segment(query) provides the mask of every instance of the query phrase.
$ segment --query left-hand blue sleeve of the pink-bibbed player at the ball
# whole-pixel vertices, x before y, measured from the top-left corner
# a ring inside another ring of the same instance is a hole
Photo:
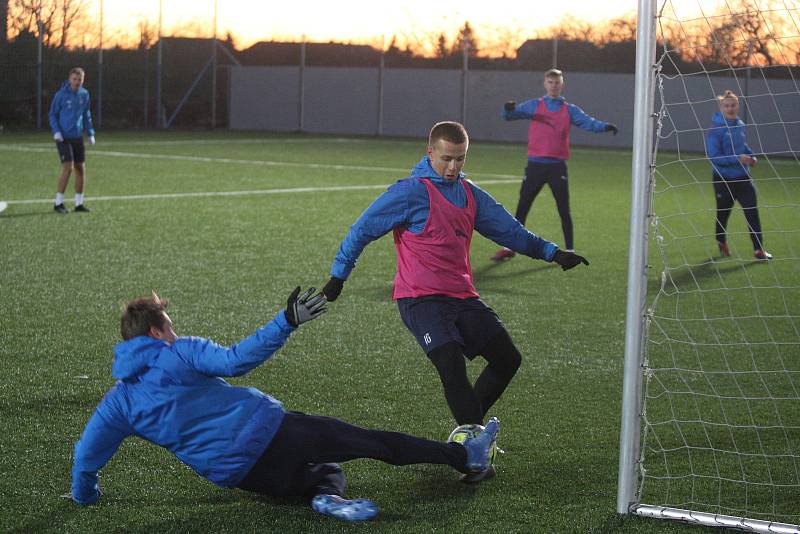
[[[401,180],[364,210],[342,240],[331,266],[331,276],[347,280],[367,245],[408,221],[410,187],[411,184]]]

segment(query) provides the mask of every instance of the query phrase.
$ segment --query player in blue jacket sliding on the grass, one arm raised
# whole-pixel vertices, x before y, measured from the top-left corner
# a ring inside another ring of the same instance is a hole
[[[124,341],[114,348],[117,383],[75,444],[69,497],[97,502],[98,471],[128,436],[168,449],[218,486],[305,497],[314,511],[349,521],[370,519],[378,507],[343,498],[345,476],[336,462],[373,458],[394,465],[445,464],[463,473],[485,470],[497,419],[463,445],[441,443],[287,412],[273,397],[220,378],[258,367],[299,325],[325,313],[325,297],[313,293],[311,288],[300,295],[296,288],[285,310],[230,348],[178,337],[168,302],[155,294],[129,302],[121,320]]]

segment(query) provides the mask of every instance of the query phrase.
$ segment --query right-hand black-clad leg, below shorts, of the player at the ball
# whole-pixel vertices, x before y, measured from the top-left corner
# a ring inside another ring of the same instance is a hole
[[[475,394],[485,416],[514,378],[522,363],[522,355],[503,329],[486,344],[482,356],[488,365],[475,381]]]

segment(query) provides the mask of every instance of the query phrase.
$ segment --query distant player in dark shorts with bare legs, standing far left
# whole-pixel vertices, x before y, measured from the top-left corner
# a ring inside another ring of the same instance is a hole
[[[92,114],[89,111],[89,91],[83,87],[85,74],[80,67],[69,71],[69,78],[61,86],[50,104],[50,129],[56,141],[58,156],[61,159],[61,176],[58,178],[53,209],[66,214],[64,191],[67,189],[69,175],[75,169],[75,211],[89,212],[83,204],[83,189],[86,185],[86,150],[83,146],[83,131],[89,135],[89,144],[94,144]]]

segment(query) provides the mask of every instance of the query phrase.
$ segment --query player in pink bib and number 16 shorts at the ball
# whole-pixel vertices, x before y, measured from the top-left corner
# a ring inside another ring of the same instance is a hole
[[[475,290],[469,262],[473,230],[564,270],[589,262],[529,232],[461,172],[469,139],[457,122],[434,125],[427,154],[379,196],[350,227],[323,288],[334,301],[369,243],[393,232],[397,274],[392,298],[436,367],[458,425],[482,424],[521,363],[500,318]],[[470,384],[465,357],[487,365]],[[493,474],[493,470],[491,470]]]

